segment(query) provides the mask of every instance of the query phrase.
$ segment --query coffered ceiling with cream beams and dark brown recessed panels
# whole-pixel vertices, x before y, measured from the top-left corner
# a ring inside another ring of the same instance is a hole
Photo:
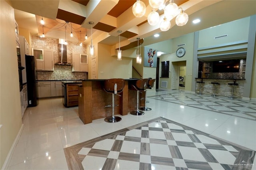
[[[74,42],[90,43],[91,35],[98,38],[100,43],[118,46],[118,30],[122,33],[122,45],[144,38],[144,44],[156,43],[183,34],[195,32],[211,26],[216,26],[236,19],[256,14],[255,0],[174,0],[179,7],[189,15],[185,26],[176,26],[175,19],[171,20],[171,28],[161,32],[159,25],[150,26],[147,16],[151,12],[148,0],[146,14],[136,18],[132,13],[132,5],[136,0],[10,0],[15,13],[15,19],[20,28],[30,30],[32,35],[43,33],[40,20],[45,21],[44,34],[46,37],[66,39]],[[163,11],[158,10],[163,18]],[[201,22],[192,24],[192,20],[199,18]],[[94,22],[94,25],[88,24]],[[72,25],[72,26],[71,26]],[[70,38],[70,32],[75,35]],[[81,32],[80,32],[81,31]],[[160,33],[160,38],[152,38]]]

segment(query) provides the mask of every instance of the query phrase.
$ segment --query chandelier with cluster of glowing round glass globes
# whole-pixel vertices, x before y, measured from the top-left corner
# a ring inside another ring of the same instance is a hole
[[[148,0],[150,6],[153,8],[152,12],[148,14],[148,24],[155,26],[159,23],[160,16],[156,10],[164,10],[164,20],[160,22],[160,30],[168,31],[171,27],[170,20],[176,17],[177,26],[184,26],[188,22],[188,14],[178,8],[178,5],[173,0]],[[140,18],[146,13],[146,5],[141,0],[137,0],[132,6],[134,16]]]

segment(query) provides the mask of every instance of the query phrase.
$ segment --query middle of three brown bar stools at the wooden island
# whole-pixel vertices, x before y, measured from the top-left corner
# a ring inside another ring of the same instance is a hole
[[[130,85],[130,90],[137,91],[137,105],[136,105],[136,111],[131,111],[131,115],[144,115],[143,111],[139,111],[139,93],[142,93],[142,91],[146,91],[146,88],[148,86],[148,79],[140,79],[137,80],[135,84]]]

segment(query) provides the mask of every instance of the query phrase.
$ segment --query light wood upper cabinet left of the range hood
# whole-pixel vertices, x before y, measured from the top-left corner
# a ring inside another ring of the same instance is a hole
[[[51,49],[32,48],[38,71],[54,71],[54,55]]]

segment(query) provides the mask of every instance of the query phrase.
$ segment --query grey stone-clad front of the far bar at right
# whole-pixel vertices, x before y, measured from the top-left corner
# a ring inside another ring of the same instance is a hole
[[[196,79],[196,81],[200,81],[201,79]],[[201,94],[213,95],[214,94],[214,84],[211,82],[220,83],[220,85],[216,85],[216,95],[217,96],[226,96],[231,97],[232,95],[232,85],[228,85],[228,83],[234,83],[234,79],[203,79],[201,86]],[[234,85],[233,97],[242,99],[244,94],[244,79],[236,80],[238,85]],[[196,83],[196,93],[199,93],[200,83]]]

